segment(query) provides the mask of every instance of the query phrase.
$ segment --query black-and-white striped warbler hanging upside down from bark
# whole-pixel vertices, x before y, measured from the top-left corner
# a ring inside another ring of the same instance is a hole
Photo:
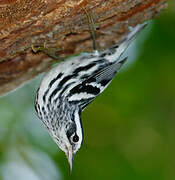
[[[144,27],[137,25],[109,49],[68,58],[43,78],[36,94],[35,109],[56,144],[65,152],[71,169],[83,140],[81,112],[109,85],[126,60],[118,61],[119,57]]]

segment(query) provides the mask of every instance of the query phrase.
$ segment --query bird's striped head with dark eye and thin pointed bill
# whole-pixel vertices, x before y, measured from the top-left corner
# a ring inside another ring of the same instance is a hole
[[[67,156],[71,171],[74,156],[80,149],[83,141],[80,114],[74,113],[72,117],[73,119],[71,120],[66,119],[65,121],[59,122],[58,128],[51,130],[51,136],[54,141]]]

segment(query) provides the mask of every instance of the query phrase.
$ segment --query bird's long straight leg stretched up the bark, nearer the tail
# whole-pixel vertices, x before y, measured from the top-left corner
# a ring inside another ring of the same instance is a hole
[[[93,40],[93,49],[94,49],[94,51],[97,51],[97,44],[96,44],[96,40],[95,40],[96,27],[94,24],[93,17],[90,13],[87,12],[87,10],[85,8],[83,8],[83,10],[84,10],[86,17],[87,17],[87,20],[88,20],[89,30],[90,30],[91,37]]]

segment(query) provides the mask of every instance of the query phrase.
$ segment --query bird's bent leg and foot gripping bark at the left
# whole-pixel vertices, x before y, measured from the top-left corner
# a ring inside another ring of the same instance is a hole
[[[57,55],[57,52],[61,51],[61,48],[47,48],[46,42],[44,43],[43,46],[32,45],[31,48],[32,48],[34,53],[38,53],[39,51],[42,51],[45,54],[47,54],[48,56],[50,56],[51,58],[54,58],[56,60],[62,60],[63,59]]]

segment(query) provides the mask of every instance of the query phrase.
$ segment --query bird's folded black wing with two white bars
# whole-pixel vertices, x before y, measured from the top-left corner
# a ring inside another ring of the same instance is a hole
[[[67,100],[70,103],[78,103],[83,110],[109,85],[126,59],[127,58],[124,58],[119,62],[105,65],[101,67],[99,71],[93,72],[88,79],[70,90]]]

